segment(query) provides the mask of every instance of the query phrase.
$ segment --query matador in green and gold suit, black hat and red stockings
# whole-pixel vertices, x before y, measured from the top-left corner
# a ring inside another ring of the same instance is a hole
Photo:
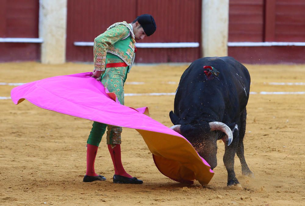
[[[156,31],[154,18],[149,14],[138,16],[133,22],[112,24],[94,39],[94,70],[92,77],[101,81],[107,92],[116,94],[124,105],[124,82],[135,59],[136,41]],[[107,145],[114,166],[114,183],[142,184],[143,181],[129,175],[121,161],[122,127],[93,122],[87,140],[87,169],[83,182],[104,181],[106,178],[95,173],[94,162],[107,127]]]

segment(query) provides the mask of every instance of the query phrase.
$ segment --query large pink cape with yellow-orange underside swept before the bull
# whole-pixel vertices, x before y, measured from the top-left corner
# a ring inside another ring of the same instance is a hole
[[[15,87],[11,98],[17,105],[24,99],[59,113],[105,124],[136,129],[143,137],[159,171],[178,182],[196,179],[206,186],[214,173],[181,134],[143,113],[147,108],[133,109],[120,105],[115,94],[91,77],[92,72],[56,76]]]

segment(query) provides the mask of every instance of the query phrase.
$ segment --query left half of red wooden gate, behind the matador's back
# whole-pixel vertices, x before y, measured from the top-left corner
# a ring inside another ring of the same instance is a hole
[[[136,0],[68,0],[67,61],[93,61],[93,47],[74,46],[74,42],[93,42],[113,23],[135,19]]]

